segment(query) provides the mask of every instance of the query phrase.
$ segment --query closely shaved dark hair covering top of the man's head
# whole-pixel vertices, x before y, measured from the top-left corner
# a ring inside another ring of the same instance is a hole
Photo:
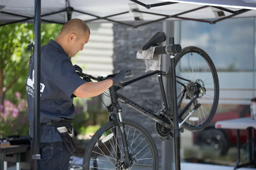
[[[77,36],[77,40],[80,39],[86,32],[90,32],[90,28],[88,25],[82,20],[82,19],[71,19],[68,22],[66,22],[60,31],[60,34],[72,34],[74,33]]]

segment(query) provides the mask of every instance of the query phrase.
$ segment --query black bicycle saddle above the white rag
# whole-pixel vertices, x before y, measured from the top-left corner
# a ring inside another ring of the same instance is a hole
[[[156,46],[166,40],[166,35],[164,32],[156,32],[151,35],[148,42],[142,47],[142,50],[147,50],[150,46]]]

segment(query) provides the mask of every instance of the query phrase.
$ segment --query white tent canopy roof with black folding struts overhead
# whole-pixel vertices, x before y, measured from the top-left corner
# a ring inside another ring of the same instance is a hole
[[[137,20],[139,20],[140,23],[145,23],[165,19],[192,19],[210,23],[210,21],[205,21],[205,19],[214,21],[217,19],[222,20],[225,17],[256,17],[256,11],[251,10],[256,7],[254,0],[166,1],[76,0],[68,2],[67,0],[42,0],[42,22],[65,23],[68,20],[68,10],[72,11],[70,13],[71,18],[80,18],[87,22],[117,21],[126,24]],[[147,9],[149,8],[149,4],[151,4],[151,8]],[[219,7],[216,6],[216,4],[220,4],[218,5]],[[227,8],[227,5],[232,8]],[[220,6],[225,6],[225,8]],[[0,22],[33,22],[31,19],[34,17],[34,8],[34,0],[0,0]],[[238,11],[238,15],[236,15],[234,11]],[[181,15],[177,16],[177,14]],[[28,20],[29,18],[30,20]]]

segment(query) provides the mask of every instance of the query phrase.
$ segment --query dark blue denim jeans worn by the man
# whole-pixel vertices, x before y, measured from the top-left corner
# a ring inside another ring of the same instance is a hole
[[[33,140],[31,140],[33,147]],[[70,152],[63,142],[40,143],[39,170],[68,170]]]

